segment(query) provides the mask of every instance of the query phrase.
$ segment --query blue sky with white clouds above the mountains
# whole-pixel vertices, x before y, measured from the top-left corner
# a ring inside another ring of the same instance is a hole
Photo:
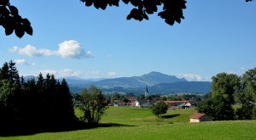
[[[33,35],[5,36],[0,64],[15,61],[20,76],[114,78],[151,71],[211,81],[256,67],[256,1],[191,0],[181,24],[157,14],[126,20],[131,5],[98,10],[79,0],[10,0],[32,23]]]

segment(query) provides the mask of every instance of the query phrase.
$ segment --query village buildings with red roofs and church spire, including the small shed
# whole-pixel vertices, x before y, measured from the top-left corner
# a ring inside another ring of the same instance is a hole
[[[169,111],[177,109],[195,109],[195,107],[201,103],[201,97],[195,94],[182,94],[176,95],[176,98],[166,98],[166,96],[160,95],[149,95],[148,87],[146,86],[145,92],[140,96],[127,96],[118,92],[108,95],[106,103],[108,107],[134,107],[134,108],[153,108],[157,103],[164,102]],[[79,96],[79,95],[77,95]],[[189,98],[197,97],[197,98]],[[199,98],[198,98],[199,97]],[[82,106],[80,98],[73,98],[73,105],[75,108]],[[212,117],[202,113],[195,113],[189,116],[188,120],[190,122],[202,122],[202,121],[212,121]]]

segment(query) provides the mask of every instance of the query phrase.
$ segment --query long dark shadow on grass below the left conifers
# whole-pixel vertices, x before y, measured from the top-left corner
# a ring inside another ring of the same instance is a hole
[[[19,125],[19,126],[0,126],[0,137],[15,137],[15,136],[28,136],[42,132],[72,132],[85,129],[93,129],[98,127],[117,127],[117,126],[130,126],[115,123],[102,123],[102,124],[87,124],[83,121],[78,121],[73,124],[59,124],[59,125]]]

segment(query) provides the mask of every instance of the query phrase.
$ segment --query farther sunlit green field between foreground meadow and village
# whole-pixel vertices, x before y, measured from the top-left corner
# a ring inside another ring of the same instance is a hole
[[[163,116],[164,119],[159,119],[152,115],[150,109],[113,107],[108,109],[107,114],[102,118],[102,122],[135,126],[170,124],[174,122],[189,122],[189,115],[193,113],[195,113],[195,109],[177,109],[168,111]]]

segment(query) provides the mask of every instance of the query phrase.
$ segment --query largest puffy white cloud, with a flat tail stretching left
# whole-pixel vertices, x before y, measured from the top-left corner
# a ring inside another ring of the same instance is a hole
[[[10,52],[18,53],[28,57],[34,56],[61,56],[62,58],[70,59],[82,59],[82,58],[94,58],[95,56],[90,51],[85,52],[84,48],[79,42],[70,40],[61,42],[58,50],[38,49],[31,45],[27,45],[25,48],[13,47],[9,49]]]

